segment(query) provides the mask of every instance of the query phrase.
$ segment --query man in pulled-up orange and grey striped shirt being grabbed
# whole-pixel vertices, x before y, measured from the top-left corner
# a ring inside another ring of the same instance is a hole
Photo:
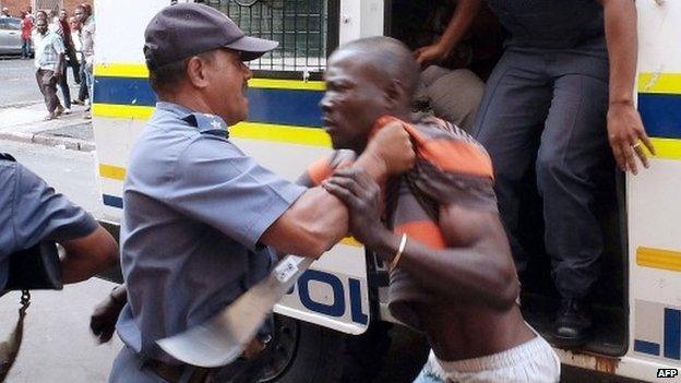
[[[409,122],[418,161],[383,188],[385,199],[357,170],[335,170],[322,184],[347,204],[353,235],[391,266],[391,312],[430,343],[416,382],[557,382],[558,357],[516,304],[489,156],[450,123],[410,120],[418,71],[407,47],[387,37],[331,56],[320,106],[334,147],[361,153],[375,121],[390,115]],[[326,164],[331,170],[334,157]]]

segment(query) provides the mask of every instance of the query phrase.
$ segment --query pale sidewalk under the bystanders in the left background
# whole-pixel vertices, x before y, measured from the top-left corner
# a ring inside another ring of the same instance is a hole
[[[92,152],[95,139],[85,107],[73,105],[71,113],[44,121],[43,100],[0,107],[0,140],[31,142],[61,148]]]

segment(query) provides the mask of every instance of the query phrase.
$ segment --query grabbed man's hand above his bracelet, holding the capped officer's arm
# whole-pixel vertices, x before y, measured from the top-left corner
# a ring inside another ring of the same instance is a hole
[[[367,172],[357,169],[336,170],[322,187],[347,206],[349,230],[358,241],[373,248],[391,235],[381,223],[381,188]]]

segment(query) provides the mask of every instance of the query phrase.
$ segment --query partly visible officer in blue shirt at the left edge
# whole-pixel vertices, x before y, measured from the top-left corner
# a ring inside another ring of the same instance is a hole
[[[64,248],[65,284],[85,280],[118,261],[116,241],[88,213],[7,154],[0,154],[0,291],[9,278],[10,255],[44,240]]]

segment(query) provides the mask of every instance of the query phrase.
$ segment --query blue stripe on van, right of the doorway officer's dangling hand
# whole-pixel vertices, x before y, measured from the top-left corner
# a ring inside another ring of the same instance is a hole
[[[681,139],[681,95],[640,93],[638,111],[649,136]]]

